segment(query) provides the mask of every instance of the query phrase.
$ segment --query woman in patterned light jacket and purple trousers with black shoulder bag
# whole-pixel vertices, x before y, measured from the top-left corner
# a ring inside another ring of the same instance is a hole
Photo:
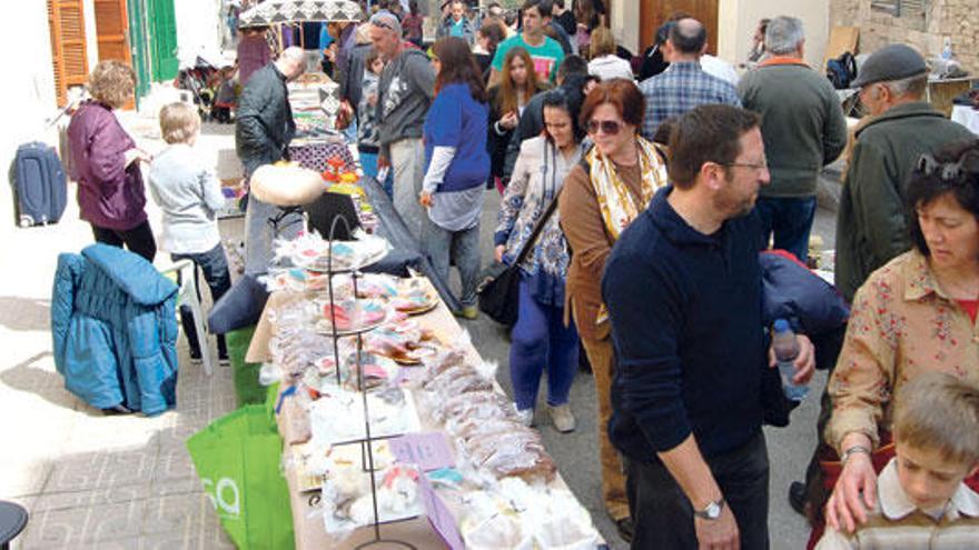
[[[532,247],[521,263],[520,304],[510,348],[517,414],[526,426],[533,423],[541,376],[546,370],[547,409],[554,428],[562,433],[575,428],[568,396],[577,370],[578,340],[574,326],[565,323],[568,254],[557,212],[535,242],[528,239],[561,192],[564,177],[581,160],[585,133],[577,123],[580,109],[580,100],[575,102],[560,90],[545,92],[544,131],[521,144],[494,236],[496,261],[512,263],[524,247]]]

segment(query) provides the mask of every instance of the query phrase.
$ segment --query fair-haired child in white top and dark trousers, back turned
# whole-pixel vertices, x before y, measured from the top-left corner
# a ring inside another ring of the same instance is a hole
[[[160,248],[170,252],[174,261],[187,258],[196,263],[216,302],[231,287],[231,276],[215,216],[225,203],[221,184],[212,167],[192,149],[200,133],[200,116],[194,106],[170,103],[160,110],[160,131],[169,147],[149,167],[149,189],[164,212]],[[197,340],[189,338],[191,333],[188,340],[195,358],[199,350]],[[218,358],[227,360],[222,336],[218,336]]]

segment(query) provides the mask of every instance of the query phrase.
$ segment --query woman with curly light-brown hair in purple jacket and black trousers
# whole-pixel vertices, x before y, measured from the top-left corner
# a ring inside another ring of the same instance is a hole
[[[125,246],[152,261],[157,252],[146,219],[146,191],[139,161],[149,156],[112,113],[132,98],[136,74],[119,61],[101,61],[92,70],[88,91],[68,124],[71,178],[78,182],[81,219],[89,222],[96,241]]]

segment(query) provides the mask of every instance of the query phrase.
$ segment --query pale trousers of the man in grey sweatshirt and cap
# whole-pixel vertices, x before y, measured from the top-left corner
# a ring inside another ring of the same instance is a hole
[[[425,146],[422,138],[405,138],[390,144],[390,171],[394,174],[394,209],[412,237],[419,238],[428,214],[418,204],[425,178]]]

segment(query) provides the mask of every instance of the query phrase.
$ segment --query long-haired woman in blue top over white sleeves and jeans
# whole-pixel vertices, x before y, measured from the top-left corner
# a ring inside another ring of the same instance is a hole
[[[490,176],[486,88],[469,46],[457,37],[432,47],[435,99],[425,117],[427,169],[418,201],[428,210],[423,247],[435,270],[448,280],[449,254],[459,270],[462,310],[475,319],[479,277],[479,213]]]

